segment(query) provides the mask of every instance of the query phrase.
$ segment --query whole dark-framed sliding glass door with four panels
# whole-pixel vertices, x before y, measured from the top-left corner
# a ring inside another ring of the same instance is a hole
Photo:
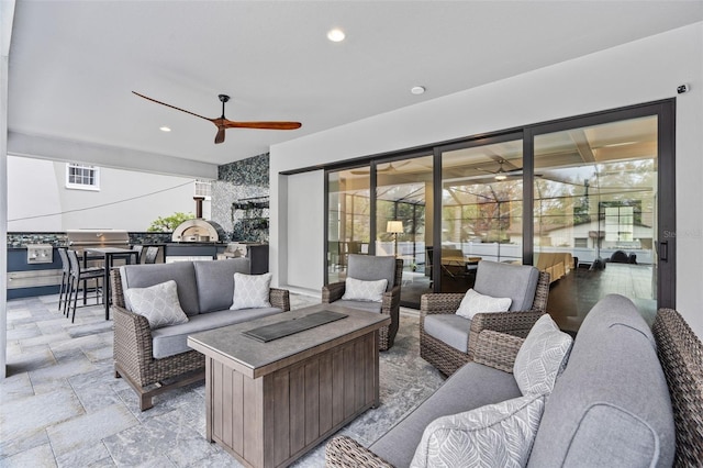
[[[327,280],[345,277],[349,253],[395,256],[401,302],[416,308],[423,293],[471,288],[480,260],[534,265],[549,272],[548,311],[569,331],[609,293],[647,319],[676,307],[673,104],[328,170]]]

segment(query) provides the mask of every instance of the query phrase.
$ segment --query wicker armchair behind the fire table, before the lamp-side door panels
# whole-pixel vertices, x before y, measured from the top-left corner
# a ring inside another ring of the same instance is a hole
[[[372,279],[382,279],[386,276],[376,277],[373,274],[369,271],[362,271],[369,263],[378,263],[376,259],[382,259],[381,261],[386,261],[391,257],[373,257],[368,255],[353,255],[350,254],[348,257],[348,269],[347,275],[352,278],[362,279],[362,280],[372,280]],[[383,300],[381,302],[380,312],[386,315],[390,315],[391,324],[388,326],[383,326],[380,328],[379,333],[379,349],[388,350],[391,346],[393,346],[393,341],[395,339],[395,334],[398,333],[399,326],[399,313],[400,313],[400,287],[402,282],[403,276],[403,260],[395,259],[395,268],[393,271],[393,283],[389,286],[389,288],[383,293]],[[322,302],[331,303],[335,301],[342,300],[344,292],[346,290],[345,281],[338,281],[330,283],[322,288]],[[369,310],[369,303],[354,303],[355,301],[344,301],[344,305],[350,308],[359,308]],[[372,304],[372,303],[371,303]]]

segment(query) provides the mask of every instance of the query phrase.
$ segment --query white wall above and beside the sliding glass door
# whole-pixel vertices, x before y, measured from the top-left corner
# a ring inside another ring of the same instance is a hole
[[[324,260],[323,210],[308,201],[292,204],[292,181],[306,176],[281,183],[280,171],[667,99],[683,82],[691,91],[677,99],[677,308],[703,336],[703,23],[272,146],[270,242],[279,246],[271,249],[274,281],[320,290]],[[294,183],[294,200],[323,197],[322,177],[304,180]],[[305,233],[293,232],[286,218],[302,213],[306,224],[297,229]],[[286,236],[295,238],[294,248],[281,243]],[[305,279],[290,275],[300,263],[310,265]]]

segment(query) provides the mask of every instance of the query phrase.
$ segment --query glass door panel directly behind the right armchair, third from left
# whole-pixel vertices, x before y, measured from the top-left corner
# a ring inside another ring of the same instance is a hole
[[[442,153],[439,291],[471,288],[480,259],[522,264],[522,140]]]

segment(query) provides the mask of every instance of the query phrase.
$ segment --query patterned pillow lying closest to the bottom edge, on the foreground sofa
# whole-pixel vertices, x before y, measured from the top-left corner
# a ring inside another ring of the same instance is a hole
[[[410,466],[524,467],[544,408],[535,394],[438,417],[425,427]]]

